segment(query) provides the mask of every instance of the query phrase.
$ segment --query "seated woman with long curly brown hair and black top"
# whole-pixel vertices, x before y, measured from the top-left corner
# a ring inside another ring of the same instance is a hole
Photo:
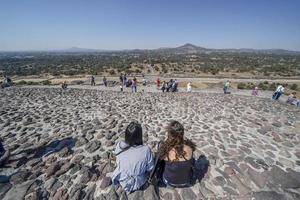
[[[167,139],[162,142],[160,159],[164,161],[162,181],[172,187],[188,187],[196,175],[193,152],[195,143],[184,138],[184,127],[172,120],[166,128]]]

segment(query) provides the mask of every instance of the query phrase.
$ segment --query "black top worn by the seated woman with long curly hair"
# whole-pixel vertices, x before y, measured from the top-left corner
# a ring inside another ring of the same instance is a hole
[[[185,161],[165,161],[163,177],[170,184],[183,185],[191,183],[194,159]]]

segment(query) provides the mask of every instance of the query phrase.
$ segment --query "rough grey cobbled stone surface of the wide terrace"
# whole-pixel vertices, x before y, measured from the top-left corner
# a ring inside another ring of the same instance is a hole
[[[11,152],[0,170],[0,199],[126,199],[108,179],[115,145],[138,120],[144,144],[156,150],[170,119],[184,125],[197,145],[194,155],[204,154],[210,166],[189,188],[160,187],[160,199],[299,199],[299,109],[270,101],[266,91],[254,98],[247,91],[53,87],[0,90],[0,135]],[[34,184],[23,185],[28,180]],[[158,199],[151,186],[130,196]]]

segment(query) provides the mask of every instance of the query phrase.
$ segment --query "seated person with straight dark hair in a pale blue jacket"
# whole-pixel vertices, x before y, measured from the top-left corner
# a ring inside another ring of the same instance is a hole
[[[120,185],[127,193],[140,189],[154,168],[151,149],[143,145],[142,127],[131,122],[125,130],[125,141],[117,143],[116,169],[112,175],[114,185]]]

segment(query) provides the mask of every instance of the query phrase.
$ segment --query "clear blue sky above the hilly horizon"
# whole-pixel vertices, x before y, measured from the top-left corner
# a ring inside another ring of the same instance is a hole
[[[0,50],[300,51],[300,0],[0,0]]]

